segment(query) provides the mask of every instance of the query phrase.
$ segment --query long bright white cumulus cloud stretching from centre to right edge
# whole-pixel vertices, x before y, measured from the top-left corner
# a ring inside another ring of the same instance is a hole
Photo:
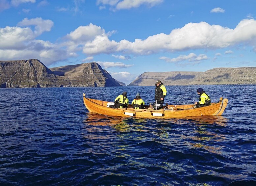
[[[107,35],[99,35],[87,42],[83,52],[89,55],[121,52],[123,54],[148,55],[158,52],[185,51],[189,49],[216,49],[256,40],[256,21],[244,19],[235,29],[206,22],[188,23],[182,28],[174,29],[170,34],[160,33],[145,40],[134,42],[109,40]]]

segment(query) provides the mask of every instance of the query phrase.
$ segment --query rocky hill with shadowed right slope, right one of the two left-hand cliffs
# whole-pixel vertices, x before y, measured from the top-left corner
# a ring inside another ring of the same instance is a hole
[[[69,79],[72,87],[119,87],[121,86],[111,75],[97,63],[50,68],[59,79]]]

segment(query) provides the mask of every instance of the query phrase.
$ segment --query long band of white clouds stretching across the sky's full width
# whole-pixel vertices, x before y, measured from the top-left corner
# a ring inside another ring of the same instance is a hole
[[[108,1],[110,3],[110,1]],[[188,23],[182,28],[174,29],[170,34],[159,33],[149,36],[145,40],[110,40],[116,31],[106,32],[100,26],[90,23],[79,26],[52,43],[37,40],[44,32],[51,31],[54,23],[48,19],[24,18],[17,26],[0,28],[0,57],[5,60],[39,58],[46,65],[57,61],[77,57],[84,53],[85,58],[99,54],[111,54],[117,59],[127,60],[130,55],[150,55],[155,53],[174,53],[195,49],[221,49],[235,45],[249,45],[252,48],[256,43],[256,21],[243,19],[234,29],[220,25],[210,25],[206,22]],[[193,58],[192,58],[192,57]],[[197,61],[207,56],[189,54],[170,59],[176,62],[187,58]],[[93,58],[88,58],[93,59]],[[168,61],[168,60],[167,60]],[[116,64],[117,65],[117,64]],[[121,63],[118,64],[123,66]],[[111,66],[111,64],[105,66]]]

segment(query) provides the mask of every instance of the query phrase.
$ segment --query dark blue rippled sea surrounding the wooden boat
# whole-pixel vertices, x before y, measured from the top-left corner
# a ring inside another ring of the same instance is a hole
[[[165,103],[192,104],[196,86],[167,86]],[[114,118],[113,101],[154,87],[0,89],[0,185],[256,185],[256,86],[202,86],[222,117]],[[184,96],[184,97],[183,97]]]

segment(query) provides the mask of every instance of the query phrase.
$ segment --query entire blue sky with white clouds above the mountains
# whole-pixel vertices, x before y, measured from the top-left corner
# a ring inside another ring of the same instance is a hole
[[[256,66],[254,0],[0,0],[0,60],[140,74]]]

